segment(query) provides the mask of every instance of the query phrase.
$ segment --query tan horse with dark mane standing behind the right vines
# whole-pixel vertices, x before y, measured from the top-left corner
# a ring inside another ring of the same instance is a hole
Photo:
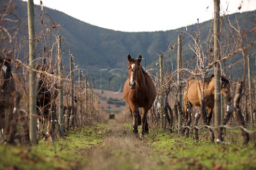
[[[190,107],[192,106],[201,106],[202,99],[202,80],[190,80],[183,94],[184,101],[184,111],[185,116],[188,117],[188,104]],[[225,77],[221,76],[221,94],[225,96],[225,98],[230,95],[230,83],[229,80]],[[214,75],[211,77],[205,78],[204,83],[204,95],[205,95],[205,107],[207,108],[207,123],[210,124],[212,118],[212,110],[214,107]]]

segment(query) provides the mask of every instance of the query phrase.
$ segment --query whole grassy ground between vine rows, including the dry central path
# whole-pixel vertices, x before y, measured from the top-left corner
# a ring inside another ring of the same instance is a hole
[[[256,169],[256,140],[243,146],[241,131],[225,132],[225,144],[150,128],[144,139],[130,123],[84,127],[54,142],[0,145],[0,169]]]

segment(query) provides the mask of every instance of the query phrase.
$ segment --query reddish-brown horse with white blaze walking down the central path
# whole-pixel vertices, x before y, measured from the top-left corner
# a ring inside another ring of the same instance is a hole
[[[124,84],[124,99],[129,104],[133,118],[133,132],[136,134],[138,134],[138,124],[141,120],[140,136],[142,137],[149,132],[147,114],[156,98],[156,88],[150,76],[140,66],[142,56],[140,55],[135,59],[128,55],[127,59],[129,61],[129,77]],[[141,119],[138,111],[139,107],[143,108]]]

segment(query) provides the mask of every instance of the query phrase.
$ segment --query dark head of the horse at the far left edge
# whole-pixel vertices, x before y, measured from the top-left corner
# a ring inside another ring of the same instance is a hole
[[[11,77],[11,60],[2,59],[0,56],[0,87],[3,92],[7,91],[7,83]]]

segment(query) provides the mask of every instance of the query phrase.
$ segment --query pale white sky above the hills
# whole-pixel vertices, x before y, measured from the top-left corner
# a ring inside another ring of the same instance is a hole
[[[27,0],[23,0],[27,1]],[[39,0],[34,0],[39,4]],[[171,30],[213,18],[213,0],[42,0],[44,6],[118,31]],[[253,11],[256,0],[221,0],[221,15]],[[227,10],[228,5],[228,10]],[[242,5],[241,10],[238,7]]]

